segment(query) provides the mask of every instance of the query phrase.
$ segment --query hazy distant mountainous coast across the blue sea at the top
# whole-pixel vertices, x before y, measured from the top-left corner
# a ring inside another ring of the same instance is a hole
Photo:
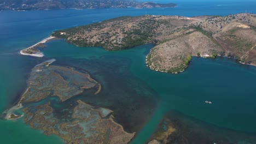
[[[174,3],[159,4],[134,0],[1,0],[0,10],[50,10],[97,8],[161,8],[176,7]]]

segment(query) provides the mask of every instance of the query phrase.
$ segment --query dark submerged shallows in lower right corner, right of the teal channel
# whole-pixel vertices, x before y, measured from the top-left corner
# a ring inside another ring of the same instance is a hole
[[[167,112],[162,117],[151,139],[156,139],[157,134],[164,134],[167,131],[167,125],[171,125],[175,131],[168,135],[166,143],[252,144],[256,141],[255,133],[217,127],[174,110]]]

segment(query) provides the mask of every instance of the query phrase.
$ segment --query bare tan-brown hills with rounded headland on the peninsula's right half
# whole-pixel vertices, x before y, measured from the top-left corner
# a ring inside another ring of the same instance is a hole
[[[256,15],[214,16],[176,28],[147,57],[151,69],[182,72],[191,56],[228,56],[238,62],[256,64]]]

